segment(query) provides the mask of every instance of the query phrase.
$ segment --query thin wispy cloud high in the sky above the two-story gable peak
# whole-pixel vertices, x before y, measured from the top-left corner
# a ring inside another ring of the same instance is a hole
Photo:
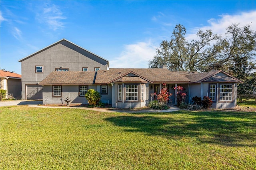
[[[54,31],[64,27],[64,22],[66,17],[63,16],[61,10],[58,6],[52,4],[46,4],[43,7],[43,11],[37,14],[37,20],[40,23],[47,24],[48,27]]]

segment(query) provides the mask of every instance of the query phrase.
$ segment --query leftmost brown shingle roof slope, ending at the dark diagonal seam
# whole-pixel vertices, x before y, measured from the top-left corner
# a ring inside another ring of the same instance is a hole
[[[52,71],[40,85],[93,84],[95,71]]]

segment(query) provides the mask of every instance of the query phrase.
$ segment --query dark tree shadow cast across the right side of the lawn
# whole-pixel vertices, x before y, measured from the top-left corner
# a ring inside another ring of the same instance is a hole
[[[129,114],[106,120],[116,126],[127,127],[124,130],[128,132],[145,132],[173,139],[196,137],[203,143],[226,146],[256,146],[253,142],[256,141],[256,113],[172,112],[168,115]]]

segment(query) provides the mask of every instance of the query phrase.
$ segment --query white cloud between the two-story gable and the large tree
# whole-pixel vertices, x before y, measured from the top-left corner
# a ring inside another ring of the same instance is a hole
[[[119,57],[110,60],[110,68],[148,68],[148,61],[156,54],[151,41],[125,45]]]

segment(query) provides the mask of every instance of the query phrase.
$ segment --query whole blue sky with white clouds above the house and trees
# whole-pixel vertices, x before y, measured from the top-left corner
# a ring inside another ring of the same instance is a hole
[[[21,74],[18,60],[63,38],[110,61],[147,68],[176,24],[223,34],[232,23],[256,30],[256,1],[0,1],[0,67]]]

